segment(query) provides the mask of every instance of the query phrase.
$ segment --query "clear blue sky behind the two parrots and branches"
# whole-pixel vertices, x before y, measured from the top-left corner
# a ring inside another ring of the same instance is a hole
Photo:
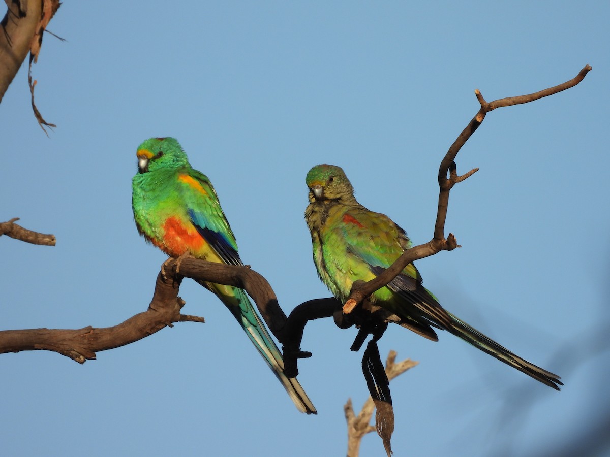
[[[490,113],[458,156],[480,171],[451,193],[462,249],[417,263],[443,305],[529,361],[555,392],[442,333],[393,326],[382,354],[420,364],[393,381],[395,455],[540,455],[610,403],[607,2],[64,2],[34,78],[0,105],[0,219],[57,236],[2,237],[2,329],[106,327],[148,306],[162,253],[131,212],[135,150],[175,136],[214,183],[245,263],[289,313],[329,292],[303,221],[304,177],[342,166],[356,196],[414,243],[432,237],[441,158],[488,101],[593,71],[577,87]],[[5,455],[344,455],[343,405],[367,397],[356,330],[309,324],[296,411],[233,317],[185,281],[178,324],[81,366],[1,356]],[[375,434],[362,456],[383,455]]]

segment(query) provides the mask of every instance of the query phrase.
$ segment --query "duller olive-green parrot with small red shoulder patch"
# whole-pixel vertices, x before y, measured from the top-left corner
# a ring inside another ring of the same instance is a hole
[[[306,183],[309,205],[305,220],[314,263],[322,282],[345,303],[354,281],[369,281],[381,274],[411,247],[411,242],[392,219],[357,202],[354,188],[340,167],[314,166],[307,173]],[[425,338],[438,341],[432,327],[447,330],[553,389],[563,385],[558,375],[523,360],[446,311],[422,285],[422,277],[412,263],[369,299],[392,313],[392,321]]]

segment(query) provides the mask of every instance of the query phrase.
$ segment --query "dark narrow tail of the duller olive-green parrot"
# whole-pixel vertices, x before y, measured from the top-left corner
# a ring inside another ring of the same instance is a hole
[[[453,335],[459,336],[459,338],[472,344],[476,348],[494,356],[498,360],[503,361],[526,375],[533,377],[535,380],[547,384],[547,386],[557,389],[558,391],[561,390],[559,389],[559,386],[564,384],[559,381],[560,377],[558,375],[542,369],[533,363],[529,363],[508,349],[502,347],[500,344],[493,341],[493,339],[483,335],[483,333],[480,331],[470,327],[470,325],[466,324],[465,322],[460,321],[458,317],[454,316],[453,314],[447,314],[449,314],[451,317],[451,325],[447,328],[447,330],[453,333]]]

